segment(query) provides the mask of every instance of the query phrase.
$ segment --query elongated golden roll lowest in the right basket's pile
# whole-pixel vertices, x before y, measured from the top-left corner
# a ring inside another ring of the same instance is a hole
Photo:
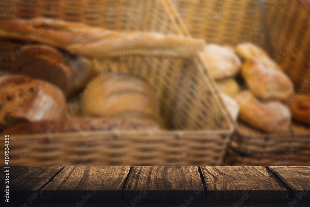
[[[251,92],[238,102],[240,105],[240,119],[255,129],[268,133],[286,132],[291,123],[288,108],[280,111],[280,101],[261,102]]]

